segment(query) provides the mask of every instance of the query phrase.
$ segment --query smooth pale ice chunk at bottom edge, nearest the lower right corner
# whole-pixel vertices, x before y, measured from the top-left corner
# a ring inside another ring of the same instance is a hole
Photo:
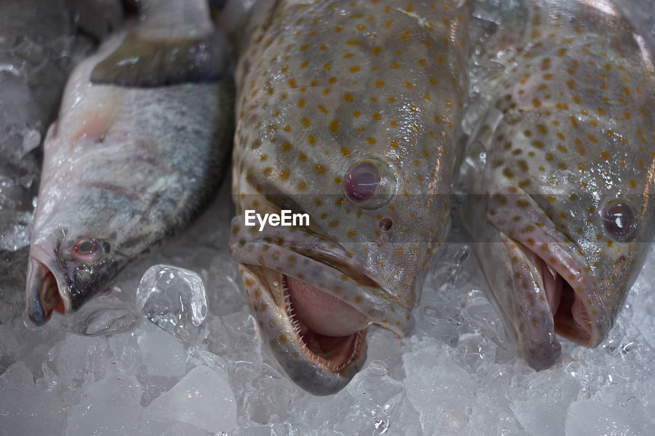
[[[639,436],[645,435],[642,422],[625,410],[598,401],[579,400],[569,406],[565,418],[567,436]]]

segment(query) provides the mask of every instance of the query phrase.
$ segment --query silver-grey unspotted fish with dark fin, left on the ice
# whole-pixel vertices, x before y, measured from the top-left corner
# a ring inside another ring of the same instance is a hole
[[[202,0],[149,1],[73,71],[48,130],[27,308],[43,325],[113,289],[214,194],[233,133],[233,80]]]

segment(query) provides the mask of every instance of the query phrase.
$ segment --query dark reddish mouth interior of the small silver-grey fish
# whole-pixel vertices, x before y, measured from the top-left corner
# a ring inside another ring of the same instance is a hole
[[[59,293],[57,279],[44,263],[33,260],[35,271],[32,271],[32,295],[29,300],[29,313],[32,321],[37,325],[45,324],[52,316],[52,312],[65,314],[65,305]]]

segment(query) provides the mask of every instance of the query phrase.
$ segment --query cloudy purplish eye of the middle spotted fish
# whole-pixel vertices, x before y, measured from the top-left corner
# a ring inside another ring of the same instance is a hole
[[[356,162],[343,177],[343,191],[352,204],[377,209],[396,192],[396,177],[383,160],[369,157]]]

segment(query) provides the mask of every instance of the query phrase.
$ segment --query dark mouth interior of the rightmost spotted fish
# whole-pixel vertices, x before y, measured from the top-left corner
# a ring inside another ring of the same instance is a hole
[[[593,329],[589,308],[583,299],[584,292],[577,292],[574,287],[584,289],[588,285],[570,274],[562,264],[549,264],[538,253],[513,240],[523,251],[527,259],[535,259],[534,268],[540,273],[542,286],[553,317],[555,333],[584,346],[595,346],[592,339]],[[532,253],[532,255],[528,255]],[[566,275],[569,280],[564,278]]]

